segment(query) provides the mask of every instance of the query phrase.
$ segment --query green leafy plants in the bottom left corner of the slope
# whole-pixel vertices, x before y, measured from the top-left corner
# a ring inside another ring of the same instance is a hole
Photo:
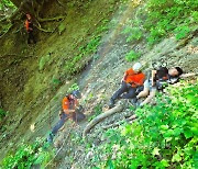
[[[54,155],[53,149],[46,150],[48,145],[45,145],[44,147],[44,144],[46,143],[41,138],[37,138],[35,143],[31,145],[22,144],[14,154],[10,153],[3,158],[0,167],[4,169],[44,168]]]

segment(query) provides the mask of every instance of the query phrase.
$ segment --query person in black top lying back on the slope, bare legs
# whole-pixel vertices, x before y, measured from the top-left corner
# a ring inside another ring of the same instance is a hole
[[[167,69],[161,67],[158,70],[152,70],[151,78],[148,77],[144,82],[144,90],[141,91],[136,98],[133,99],[133,103],[136,103],[140,98],[147,97],[140,106],[147,104],[155,97],[156,91],[162,91],[168,83],[173,84],[178,82],[183,69],[174,67]]]

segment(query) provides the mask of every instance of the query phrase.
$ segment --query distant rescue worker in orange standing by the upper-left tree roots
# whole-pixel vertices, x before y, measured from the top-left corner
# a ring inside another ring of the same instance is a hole
[[[36,42],[35,42],[34,35],[33,35],[32,18],[29,13],[26,14],[25,29],[26,29],[26,32],[29,34],[28,44],[31,44],[31,43],[35,44]]]

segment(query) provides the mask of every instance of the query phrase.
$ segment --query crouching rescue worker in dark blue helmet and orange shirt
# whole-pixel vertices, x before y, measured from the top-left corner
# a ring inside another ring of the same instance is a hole
[[[66,120],[72,119],[75,122],[79,122],[85,119],[85,114],[82,114],[82,108],[78,103],[78,99],[80,98],[81,93],[78,90],[75,90],[63,99],[59,121],[53,127],[47,138],[48,143],[53,142],[53,137],[56,135],[58,129],[62,128]]]

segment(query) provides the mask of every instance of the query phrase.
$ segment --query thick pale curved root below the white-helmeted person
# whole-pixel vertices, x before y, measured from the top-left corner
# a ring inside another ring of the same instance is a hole
[[[106,117],[114,114],[114,113],[118,113],[118,112],[121,112],[122,110],[124,109],[124,104],[122,103],[119,103],[118,105],[116,105],[114,108],[108,110],[107,112],[98,115],[97,117],[95,117],[92,121],[90,121],[90,123],[88,123],[88,125],[86,126],[86,128],[84,129],[84,133],[82,133],[82,137],[85,138],[87,133],[89,133],[89,131],[96,125],[98,124],[99,122],[103,121]]]

